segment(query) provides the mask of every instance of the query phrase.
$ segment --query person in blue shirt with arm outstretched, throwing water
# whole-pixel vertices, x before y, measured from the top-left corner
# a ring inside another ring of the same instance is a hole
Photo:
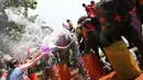
[[[28,70],[29,68],[33,67],[37,64],[42,57],[46,56],[47,53],[43,53],[42,55],[38,55],[36,58],[32,59],[31,61],[20,65],[20,61],[16,59],[12,59],[9,61],[9,66],[11,69],[13,69],[10,73],[9,80],[29,80],[28,76],[25,76],[23,72]]]

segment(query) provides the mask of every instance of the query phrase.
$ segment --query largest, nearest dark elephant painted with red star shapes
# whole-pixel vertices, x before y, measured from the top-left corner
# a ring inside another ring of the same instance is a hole
[[[103,47],[121,41],[123,35],[143,56],[142,23],[136,10],[131,0],[100,0],[97,3],[95,12],[101,23],[99,41]]]

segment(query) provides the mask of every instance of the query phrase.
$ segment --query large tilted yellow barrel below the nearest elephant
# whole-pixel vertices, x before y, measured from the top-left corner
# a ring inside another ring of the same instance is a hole
[[[132,80],[141,75],[141,70],[125,44],[120,41],[105,48],[110,64],[121,80]]]

